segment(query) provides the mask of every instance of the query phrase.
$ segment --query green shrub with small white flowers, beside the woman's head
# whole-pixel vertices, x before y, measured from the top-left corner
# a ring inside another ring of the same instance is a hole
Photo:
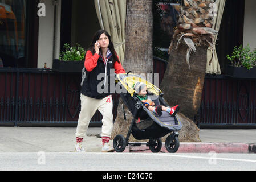
[[[60,52],[60,60],[63,61],[81,61],[84,60],[86,51],[76,43],[76,46],[71,47],[70,44],[64,44],[64,51]]]

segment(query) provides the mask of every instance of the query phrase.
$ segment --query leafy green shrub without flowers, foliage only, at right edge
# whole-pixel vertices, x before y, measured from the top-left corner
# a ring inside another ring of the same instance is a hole
[[[245,48],[243,48],[242,45],[239,47],[235,46],[231,57],[227,55],[227,59],[231,61],[234,67],[251,69],[256,67],[256,49],[250,52],[249,45],[245,46]]]

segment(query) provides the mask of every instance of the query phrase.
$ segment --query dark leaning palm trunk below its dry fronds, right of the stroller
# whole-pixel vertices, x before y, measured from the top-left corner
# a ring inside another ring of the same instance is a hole
[[[180,44],[170,53],[160,89],[170,106],[179,104],[178,117],[183,125],[180,130],[181,142],[200,142],[199,129],[192,121],[201,104],[202,88],[205,80],[206,46],[197,47],[186,63],[187,46]]]

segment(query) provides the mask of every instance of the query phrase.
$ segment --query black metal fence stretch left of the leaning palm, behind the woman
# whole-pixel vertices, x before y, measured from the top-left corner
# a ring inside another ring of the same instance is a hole
[[[153,59],[161,81],[167,62]],[[0,69],[0,123],[76,123],[80,112],[80,73],[52,69]],[[119,94],[112,94],[116,118]],[[101,123],[96,111],[91,123]]]

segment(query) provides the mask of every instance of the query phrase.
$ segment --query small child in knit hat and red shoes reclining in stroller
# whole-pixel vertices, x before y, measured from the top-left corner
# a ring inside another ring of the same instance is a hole
[[[158,114],[159,116],[162,115],[162,111],[167,111],[168,113],[170,113],[170,115],[174,116],[176,115],[178,110],[180,110],[179,105],[176,105],[174,107],[165,107],[163,105],[153,107],[155,106],[155,103],[152,100],[148,99],[147,85],[143,82],[136,82],[135,84],[133,84],[133,89],[135,90],[135,92],[137,92],[137,97],[140,99],[141,102],[143,102],[145,107],[148,110]]]

